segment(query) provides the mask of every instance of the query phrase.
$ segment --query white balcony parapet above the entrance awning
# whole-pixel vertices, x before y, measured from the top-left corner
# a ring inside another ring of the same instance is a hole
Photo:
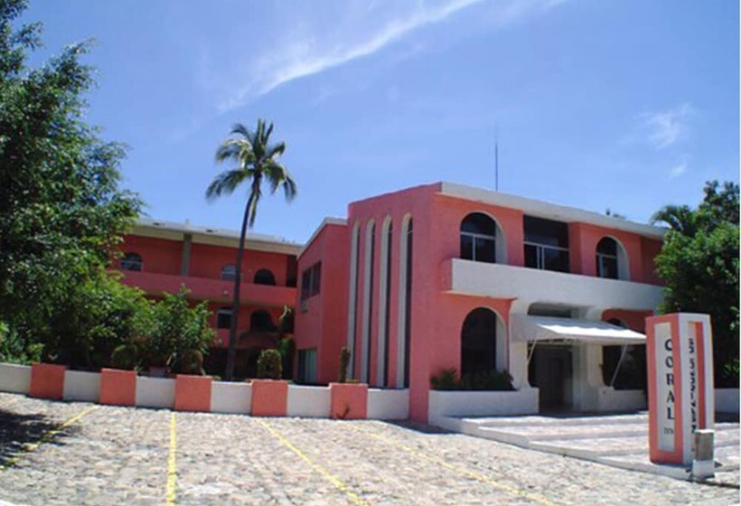
[[[663,299],[661,286],[618,279],[460,258],[446,260],[441,267],[443,290],[452,294],[634,311],[652,310]]]

